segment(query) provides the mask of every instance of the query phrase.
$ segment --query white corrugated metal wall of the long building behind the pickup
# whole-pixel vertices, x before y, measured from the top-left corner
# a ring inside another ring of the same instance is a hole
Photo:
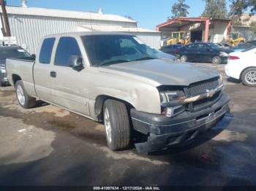
[[[136,23],[103,21],[103,20],[80,20],[59,17],[32,17],[29,15],[8,15],[12,36],[16,36],[20,46],[34,54],[40,39],[50,34],[78,31],[78,24],[111,25],[136,27]]]

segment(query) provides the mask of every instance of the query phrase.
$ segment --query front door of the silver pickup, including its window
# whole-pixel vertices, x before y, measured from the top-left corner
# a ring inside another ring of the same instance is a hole
[[[71,56],[82,58],[77,39],[64,36],[59,39],[51,73],[53,102],[59,106],[86,116],[89,114],[89,99],[86,69],[75,71],[69,66]]]

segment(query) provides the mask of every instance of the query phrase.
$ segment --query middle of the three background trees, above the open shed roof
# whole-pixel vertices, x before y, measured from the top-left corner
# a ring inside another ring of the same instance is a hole
[[[206,1],[206,7],[203,11],[202,17],[212,17],[212,18],[227,17],[226,0],[204,0],[204,1]]]

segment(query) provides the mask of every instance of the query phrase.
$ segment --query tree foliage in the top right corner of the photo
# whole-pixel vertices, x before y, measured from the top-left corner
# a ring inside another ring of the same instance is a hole
[[[256,13],[256,0],[230,0],[230,15],[242,15],[249,11],[251,15]]]

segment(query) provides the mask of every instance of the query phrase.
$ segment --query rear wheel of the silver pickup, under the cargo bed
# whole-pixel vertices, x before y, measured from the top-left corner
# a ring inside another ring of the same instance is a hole
[[[20,106],[22,106],[24,109],[29,109],[36,105],[36,98],[33,98],[26,93],[22,80],[15,83],[15,90],[17,100]]]

